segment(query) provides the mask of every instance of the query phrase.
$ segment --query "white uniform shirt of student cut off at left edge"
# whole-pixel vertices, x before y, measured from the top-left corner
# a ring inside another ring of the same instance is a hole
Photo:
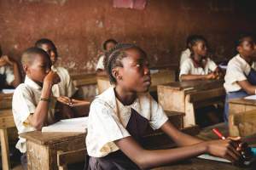
[[[0,89],[4,88],[5,83],[11,85],[15,80],[13,69],[9,65],[0,66]]]

